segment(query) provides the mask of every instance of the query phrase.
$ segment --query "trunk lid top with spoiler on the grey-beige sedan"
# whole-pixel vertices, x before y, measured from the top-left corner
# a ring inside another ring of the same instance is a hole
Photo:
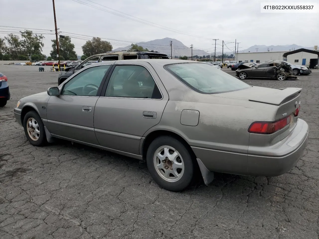
[[[301,88],[293,87],[284,89],[273,89],[253,86],[248,89],[220,93],[214,96],[238,100],[249,100],[270,105],[281,105],[284,101],[288,100],[291,96],[297,94],[300,91]]]

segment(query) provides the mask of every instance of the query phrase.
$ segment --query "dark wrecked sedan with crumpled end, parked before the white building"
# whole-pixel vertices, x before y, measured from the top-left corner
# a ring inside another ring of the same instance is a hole
[[[247,62],[237,68],[236,76],[241,80],[246,78],[271,78],[279,81],[299,79],[293,75],[291,66],[281,61],[263,62],[256,66],[252,62]]]

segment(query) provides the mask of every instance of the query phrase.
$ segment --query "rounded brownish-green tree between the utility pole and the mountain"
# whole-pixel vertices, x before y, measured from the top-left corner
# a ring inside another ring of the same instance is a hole
[[[85,42],[82,46],[84,55],[96,55],[112,51],[112,45],[109,41],[102,41],[99,37],[93,37],[92,40]]]

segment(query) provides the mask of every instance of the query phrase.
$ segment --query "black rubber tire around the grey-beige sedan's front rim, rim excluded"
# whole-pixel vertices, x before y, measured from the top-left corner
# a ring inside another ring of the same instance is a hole
[[[39,134],[39,138],[37,140],[33,140],[29,133],[28,133],[28,130],[27,130],[27,121],[30,119],[30,118],[33,118],[36,123],[38,124],[39,126],[39,131],[40,131],[40,134]],[[24,133],[26,134],[26,138],[28,139],[28,141],[30,142],[30,144],[34,145],[34,146],[43,146],[47,143],[47,137],[46,137],[46,134],[45,134],[45,130],[44,130],[44,125],[43,125],[43,122],[40,118],[40,116],[38,115],[37,112],[35,111],[29,111],[26,113],[24,119],[23,119],[23,128],[24,128]]]

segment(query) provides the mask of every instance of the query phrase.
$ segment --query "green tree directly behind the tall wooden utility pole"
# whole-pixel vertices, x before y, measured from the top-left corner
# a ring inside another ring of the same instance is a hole
[[[52,51],[50,52],[50,56],[52,59],[57,60],[56,57],[56,40],[51,40],[52,43]],[[60,56],[63,56],[64,59],[69,60],[70,58],[76,58],[77,54],[74,51],[74,44],[71,42],[71,38],[69,36],[59,37],[59,53]],[[61,57],[60,57],[61,60]]]

